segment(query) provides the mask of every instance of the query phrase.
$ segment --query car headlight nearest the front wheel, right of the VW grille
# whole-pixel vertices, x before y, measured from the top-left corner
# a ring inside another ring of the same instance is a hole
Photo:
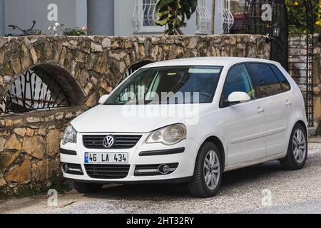
[[[165,145],[173,145],[185,138],[185,125],[178,123],[174,125],[169,125],[165,128],[154,130],[150,135],[148,135],[146,143],[161,142]]]

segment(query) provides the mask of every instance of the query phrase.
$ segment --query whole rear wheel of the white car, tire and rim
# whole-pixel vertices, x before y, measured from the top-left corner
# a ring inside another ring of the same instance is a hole
[[[292,130],[287,148],[287,157],[280,160],[286,170],[300,170],[307,160],[307,133],[305,128],[296,124]]]

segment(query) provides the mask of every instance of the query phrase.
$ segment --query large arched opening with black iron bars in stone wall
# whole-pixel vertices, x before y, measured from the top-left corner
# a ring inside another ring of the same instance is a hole
[[[26,113],[81,105],[85,97],[70,73],[40,64],[16,78],[0,100],[0,113]]]

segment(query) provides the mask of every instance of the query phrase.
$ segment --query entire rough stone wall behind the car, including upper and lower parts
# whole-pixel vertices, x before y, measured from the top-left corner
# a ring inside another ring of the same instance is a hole
[[[60,173],[58,147],[68,122],[110,93],[141,61],[194,56],[269,58],[264,36],[29,36],[0,38],[0,97],[37,68],[60,82],[70,108],[0,115],[0,195],[46,190]]]

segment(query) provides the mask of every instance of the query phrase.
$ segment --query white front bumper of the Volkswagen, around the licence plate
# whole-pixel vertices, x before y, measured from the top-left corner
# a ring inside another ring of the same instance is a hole
[[[93,135],[108,135],[108,133],[93,133]],[[86,135],[90,135],[86,133]],[[121,135],[121,134],[118,134]],[[128,134],[127,134],[128,135]],[[134,134],[133,134],[134,135]],[[78,133],[77,143],[61,144],[61,162],[79,164],[83,175],[74,175],[63,172],[63,176],[78,182],[96,182],[96,183],[137,183],[137,182],[182,182],[190,180],[193,176],[195,158],[198,152],[198,143],[193,139],[185,139],[175,145],[163,145],[161,143],[144,143],[148,134],[143,135],[135,147],[129,149],[88,149],[83,146],[82,133]],[[182,151],[183,149],[183,151]],[[76,155],[72,155],[75,151]],[[166,151],[165,154],[161,154]],[[65,153],[66,152],[66,153]],[[93,178],[86,172],[84,164],[85,152],[128,152],[129,170],[126,177],[123,178]],[[136,167],[143,165],[159,165],[178,163],[173,172],[166,175],[136,175]]]

